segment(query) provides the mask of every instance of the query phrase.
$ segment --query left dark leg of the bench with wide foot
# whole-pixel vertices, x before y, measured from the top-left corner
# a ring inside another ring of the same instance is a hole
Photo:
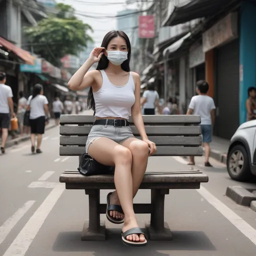
[[[89,195],[89,220],[86,220],[81,239],[83,241],[105,240],[105,223],[99,218],[99,189],[85,189]]]

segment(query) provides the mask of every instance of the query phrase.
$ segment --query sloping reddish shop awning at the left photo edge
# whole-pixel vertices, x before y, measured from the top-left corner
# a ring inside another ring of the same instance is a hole
[[[17,47],[13,43],[7,41],[6,39],[4,39],[3,37],[0,36],[0,46],[1,45],[3,47],[7,48],[8,50],[14,52],[17,56],[19,56],[21,59],[23,59],[26,64],[29,64],[29,65],[34,64],[35,57],[32,56],[28,51]]]

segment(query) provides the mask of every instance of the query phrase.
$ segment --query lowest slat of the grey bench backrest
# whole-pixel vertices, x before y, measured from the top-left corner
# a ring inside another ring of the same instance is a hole
[[[59,155],[81,155],[85,152],[83,146],[60,146]],[[158,146],[154,156],[201,156],[200,146]]]

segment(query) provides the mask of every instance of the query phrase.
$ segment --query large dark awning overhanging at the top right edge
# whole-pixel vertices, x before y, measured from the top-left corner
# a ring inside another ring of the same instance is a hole
[[[175,6],[164,26],[173,26],[190,21],[195,18],[202,18],[215,15],[227,4],[236,0],[190,0],[190,2]]]

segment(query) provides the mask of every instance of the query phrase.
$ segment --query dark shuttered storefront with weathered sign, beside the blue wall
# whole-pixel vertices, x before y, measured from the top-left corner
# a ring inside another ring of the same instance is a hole
[[[214,49],[214,134],[230,139],[239,125],[237,13],[229,13],[202,35],[203,51]]]

